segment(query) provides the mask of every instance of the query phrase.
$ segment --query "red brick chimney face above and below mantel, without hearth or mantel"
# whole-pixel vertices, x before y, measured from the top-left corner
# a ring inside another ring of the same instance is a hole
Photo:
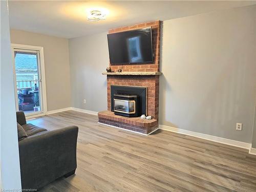
[[[125,26],[117,29],[109,30],[109,33],[140,29],[144,27],[152,27],[152,44],[154,62],[153,63],[135,63],[125,65],[111,65],[112,71],[117,72],[118,69],[122,69],[122,72],[159,72],[160,61],[160,33],[161,22],[148,22],[133,26]],[[116,86],[140,86],[147,87],[147,115],[151,115],[154,119],[158,120],[158,105],[159,105],[159,76],[156,75],[108,75],[108,111],[111,111],[111,85]]]

